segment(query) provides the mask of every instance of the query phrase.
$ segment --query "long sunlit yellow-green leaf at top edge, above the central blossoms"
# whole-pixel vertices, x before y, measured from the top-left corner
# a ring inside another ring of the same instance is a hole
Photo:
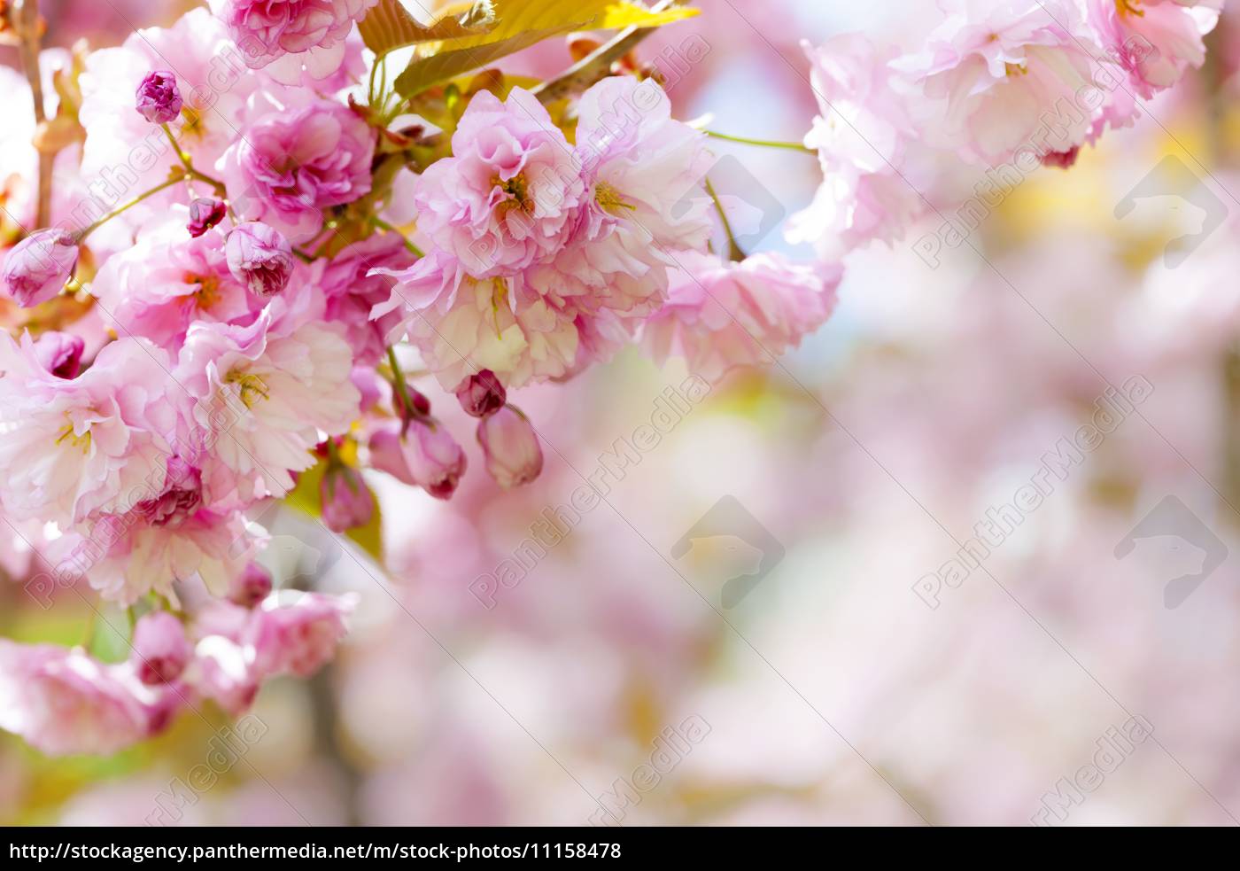
[[[696,9],[651,11],[631,0],[495,0],[495,25],[476,34],[425,47],[396,79],[402,97],[455,78],[574,30],[658,27],[697,15]]]

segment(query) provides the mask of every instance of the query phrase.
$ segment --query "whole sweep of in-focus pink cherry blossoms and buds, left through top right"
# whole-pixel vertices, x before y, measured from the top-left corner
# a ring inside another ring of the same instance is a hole
[[[821,256],[794,262],[739,249],[746,203],[715,195],[707,134],[640,65],[547,102],[500,71],[398,92],[358,27],[378,2],[212,0],[33,72],[37,124],[5,145],[0,519],[41,603],[133,624],[120,663],[0,643],[0,727],[48,753],[207,700],[238,715],[335,655],[353,601],[272,589],[273,501],[357,537],[376,475],[456,491],[466,452],[434,403],[510,489],[543,467],[512,391],[626,345],[709,381],[771,362],[831,315],[842,251],[924,211],[931,156],[1012,159],[1107,69],[1123,81],[1033,146],[1070,165],[1200,66],[1218,5],[961,0],[913,53],[811,48],[825,181],[791,232]]]

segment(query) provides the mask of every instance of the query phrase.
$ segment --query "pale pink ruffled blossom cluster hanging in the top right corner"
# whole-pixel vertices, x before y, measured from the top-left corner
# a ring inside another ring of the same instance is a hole
[[[1141,100],[1203,65],[1202,37],[1223,7],[937,2],[941,24],[905,46],[859,34],[805,45],[821,113],[805,144],[818,153],[825,181],[790,222],[791,241],[815,243],[823,256],[894,242],[968,196],[939,195],[961,165],[1011,168],[1013,177],[1071,166],[1105,130],[1131,125]]]

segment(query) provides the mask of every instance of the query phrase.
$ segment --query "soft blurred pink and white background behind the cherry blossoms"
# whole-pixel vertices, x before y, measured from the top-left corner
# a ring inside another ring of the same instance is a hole
[[[191,4],[42,5],[50,45],[103,46]],[[929,6],[698,5],[640,56],[707,45],[668,82],[678,117],[774,140],[816,112],[800,40],[908,40]],[[0,736],[0,823],[1236,824],[1235,11],[1204,71],[1070,171],[1029,175],[972,244],[931,264],[916,244],[936,220],[849,256],[818,334],[673,403],[637,462],[608,457],[689,373],[632,351],[516,393],[544,437],[529,486],[498,491],[472,443],[450,502],[376,476],[386,570],[264,517],[281,583],[361,596],[335,663],[268,684],[260,737],[233,741],[227,773],[188,800],[170,784],[228,728],[210,711],[107,759]],[[517,62],[551,74],[569,56],[557,42]],[[817,161],[715,145],[779,203],[750,248],[811,257],[779,225],[810,201]],[[1159,166],[1192,192],[1151,187]],[[968,171],[966,191],[985,179]],[[1039,473],[1132,378],[1152,390],[1112,406],[1063,474]],[[587,479],[606,501],[574,509]],[[570,530],[529,547],[557,511]],[[994,517],[985,558],[960,560]],[[22,555],[6,557],[0,632],[73,643],[83,615],[31,605]]]

